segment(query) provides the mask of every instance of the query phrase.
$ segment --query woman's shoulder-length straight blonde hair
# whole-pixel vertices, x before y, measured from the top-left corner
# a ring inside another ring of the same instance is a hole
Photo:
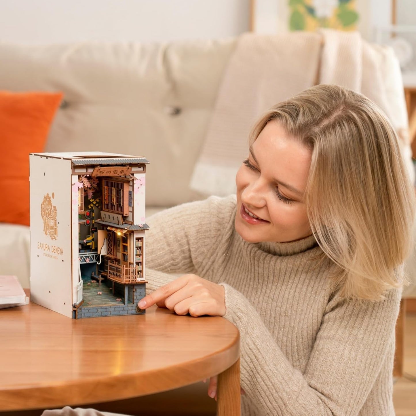
[[[391,123],[362,94],[335,85],[272,107],[250,144],[270,120],[312,151],[304,201],[340,295],[383,299],[404,281],[414,220],[414,189]]]

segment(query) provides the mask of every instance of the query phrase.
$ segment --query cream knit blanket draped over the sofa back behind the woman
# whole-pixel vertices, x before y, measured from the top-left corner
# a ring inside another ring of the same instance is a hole
[[[239,37],[191,188],[208,195],[235,193],[235,173],[248,156],[253,123],[272,105],[317,83],[361,92],[386,113],[403,139],[402,151],[414,181],[404,89],[393,50],[369,44],[358,32],[321,30]]]

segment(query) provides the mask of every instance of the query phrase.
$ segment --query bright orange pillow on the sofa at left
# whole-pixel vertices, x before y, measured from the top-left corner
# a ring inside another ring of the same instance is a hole
[[[29,225],[29,153],[45,149],[62,96],[0,91],[0,222]]]

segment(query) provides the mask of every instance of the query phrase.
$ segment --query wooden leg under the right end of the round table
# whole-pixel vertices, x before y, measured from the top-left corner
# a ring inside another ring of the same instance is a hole
[[[240,416],[240,359],[218,374],[217,416]]]

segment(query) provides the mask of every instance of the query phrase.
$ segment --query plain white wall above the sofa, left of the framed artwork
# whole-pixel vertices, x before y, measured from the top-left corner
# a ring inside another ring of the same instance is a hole
[[[236,36],[249,0],[0,0],[0,41],[166,42]]]

